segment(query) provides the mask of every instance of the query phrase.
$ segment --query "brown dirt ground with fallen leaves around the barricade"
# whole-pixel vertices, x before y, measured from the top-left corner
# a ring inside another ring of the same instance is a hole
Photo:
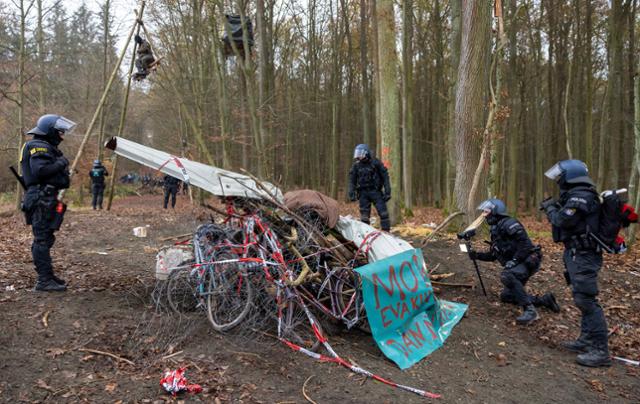
[[[429,401],[316,363],[269,338],[216,334],[204,315],[184,322],[155,314],[154,249],[207,219],[187,202],[181,197],[175,212],[160,208],[160,196],[122,199],[111,212],[72,209],[53,250],[58,275],[70,283],[62,294],[31,290],[30,229],[18,215],[0,218],[1,401],[175,401],[159,380],[164,369],[179,366],[188,366],[190,382],[204,387],[178,398],[188,402],[304,403],[303,391],[317,403]],[[132,228],[145,225],[149,237],[133,237]],[[455,273],[444,282],[477,282],[453,240],[436,241],[424,253],[430,268],[440,264],[437,273]],[[640,402],[639,368],[615,363],[588,369],[558,348],[561,338],[576,336],[578,312],[562,279],[559,250],[546,254],[531,288],[554,291],[563,310],[541,311],[534,326],[515,324],[518,310],[497,298],[497,268],[482,263],[489,298],[478,288],[439,286],[440,298],[468,303],[469,311],[445,345],[412,368],[399,370],[360,331],[331,336],[330,342],[374,373],[442,394],[432,400],[442,403]],[[634,274],[640,260],[630,267],[607,260],[601,289],[612,351],[638,360],[639,324],[632,316],[640,312],[640,278]]]

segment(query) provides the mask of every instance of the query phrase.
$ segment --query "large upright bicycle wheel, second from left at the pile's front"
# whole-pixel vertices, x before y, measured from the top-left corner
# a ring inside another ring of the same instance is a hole
[[[216,261],[238,258],[222,252]],[[228,331],[244,320],[251,309],[253,286],[246,270],[238,263],[216,264],[209,271],[206,292],[207,316],[216,331]]]

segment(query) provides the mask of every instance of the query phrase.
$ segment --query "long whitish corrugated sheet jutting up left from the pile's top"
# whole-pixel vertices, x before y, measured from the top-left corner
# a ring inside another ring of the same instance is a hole
[[[121,137],[113,137],[107,142],[107,147],[119,156],[159,170],[217,196],[272,199],[267,192],[258,188],[255,181],[246,175],[208,166],[183,157],[176,157]],[[282,192],[278,187],[268,182],[262,184],[278,202],[284,202]]]

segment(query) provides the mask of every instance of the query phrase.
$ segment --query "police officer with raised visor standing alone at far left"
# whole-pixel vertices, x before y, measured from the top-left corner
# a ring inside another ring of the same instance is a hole
[[[76,124],[60,115],[43,115],[35,128],[27,132],[33,139],[26,142],[20,156],[20,166],[27,190],[22,201],[27,224],[33,231],[31,254],[38,273],[35,290],[62,292],[64,280],[53,273],[51,247],[54,231],[62,224],[64,209],[57,201],[60,189],[69,188],[69,161],[58,149],[65,133]]]

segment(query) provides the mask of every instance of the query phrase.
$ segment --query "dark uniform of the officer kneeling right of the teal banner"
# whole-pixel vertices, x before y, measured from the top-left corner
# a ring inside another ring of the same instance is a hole
[[[498,260],[502,266],[509,261],[515,263],[511,268],[505,267],[500,275],[500,281],[504,285],[500,293],[501,301],[523,307],[529,304],[547,306],[544,299],[529,295],[524,290],[529,278],[540,269],[542,254],[518,220],[503,216],[491,226],[491,247],[488,252],[476,253],[476,258],[481,261]]]

